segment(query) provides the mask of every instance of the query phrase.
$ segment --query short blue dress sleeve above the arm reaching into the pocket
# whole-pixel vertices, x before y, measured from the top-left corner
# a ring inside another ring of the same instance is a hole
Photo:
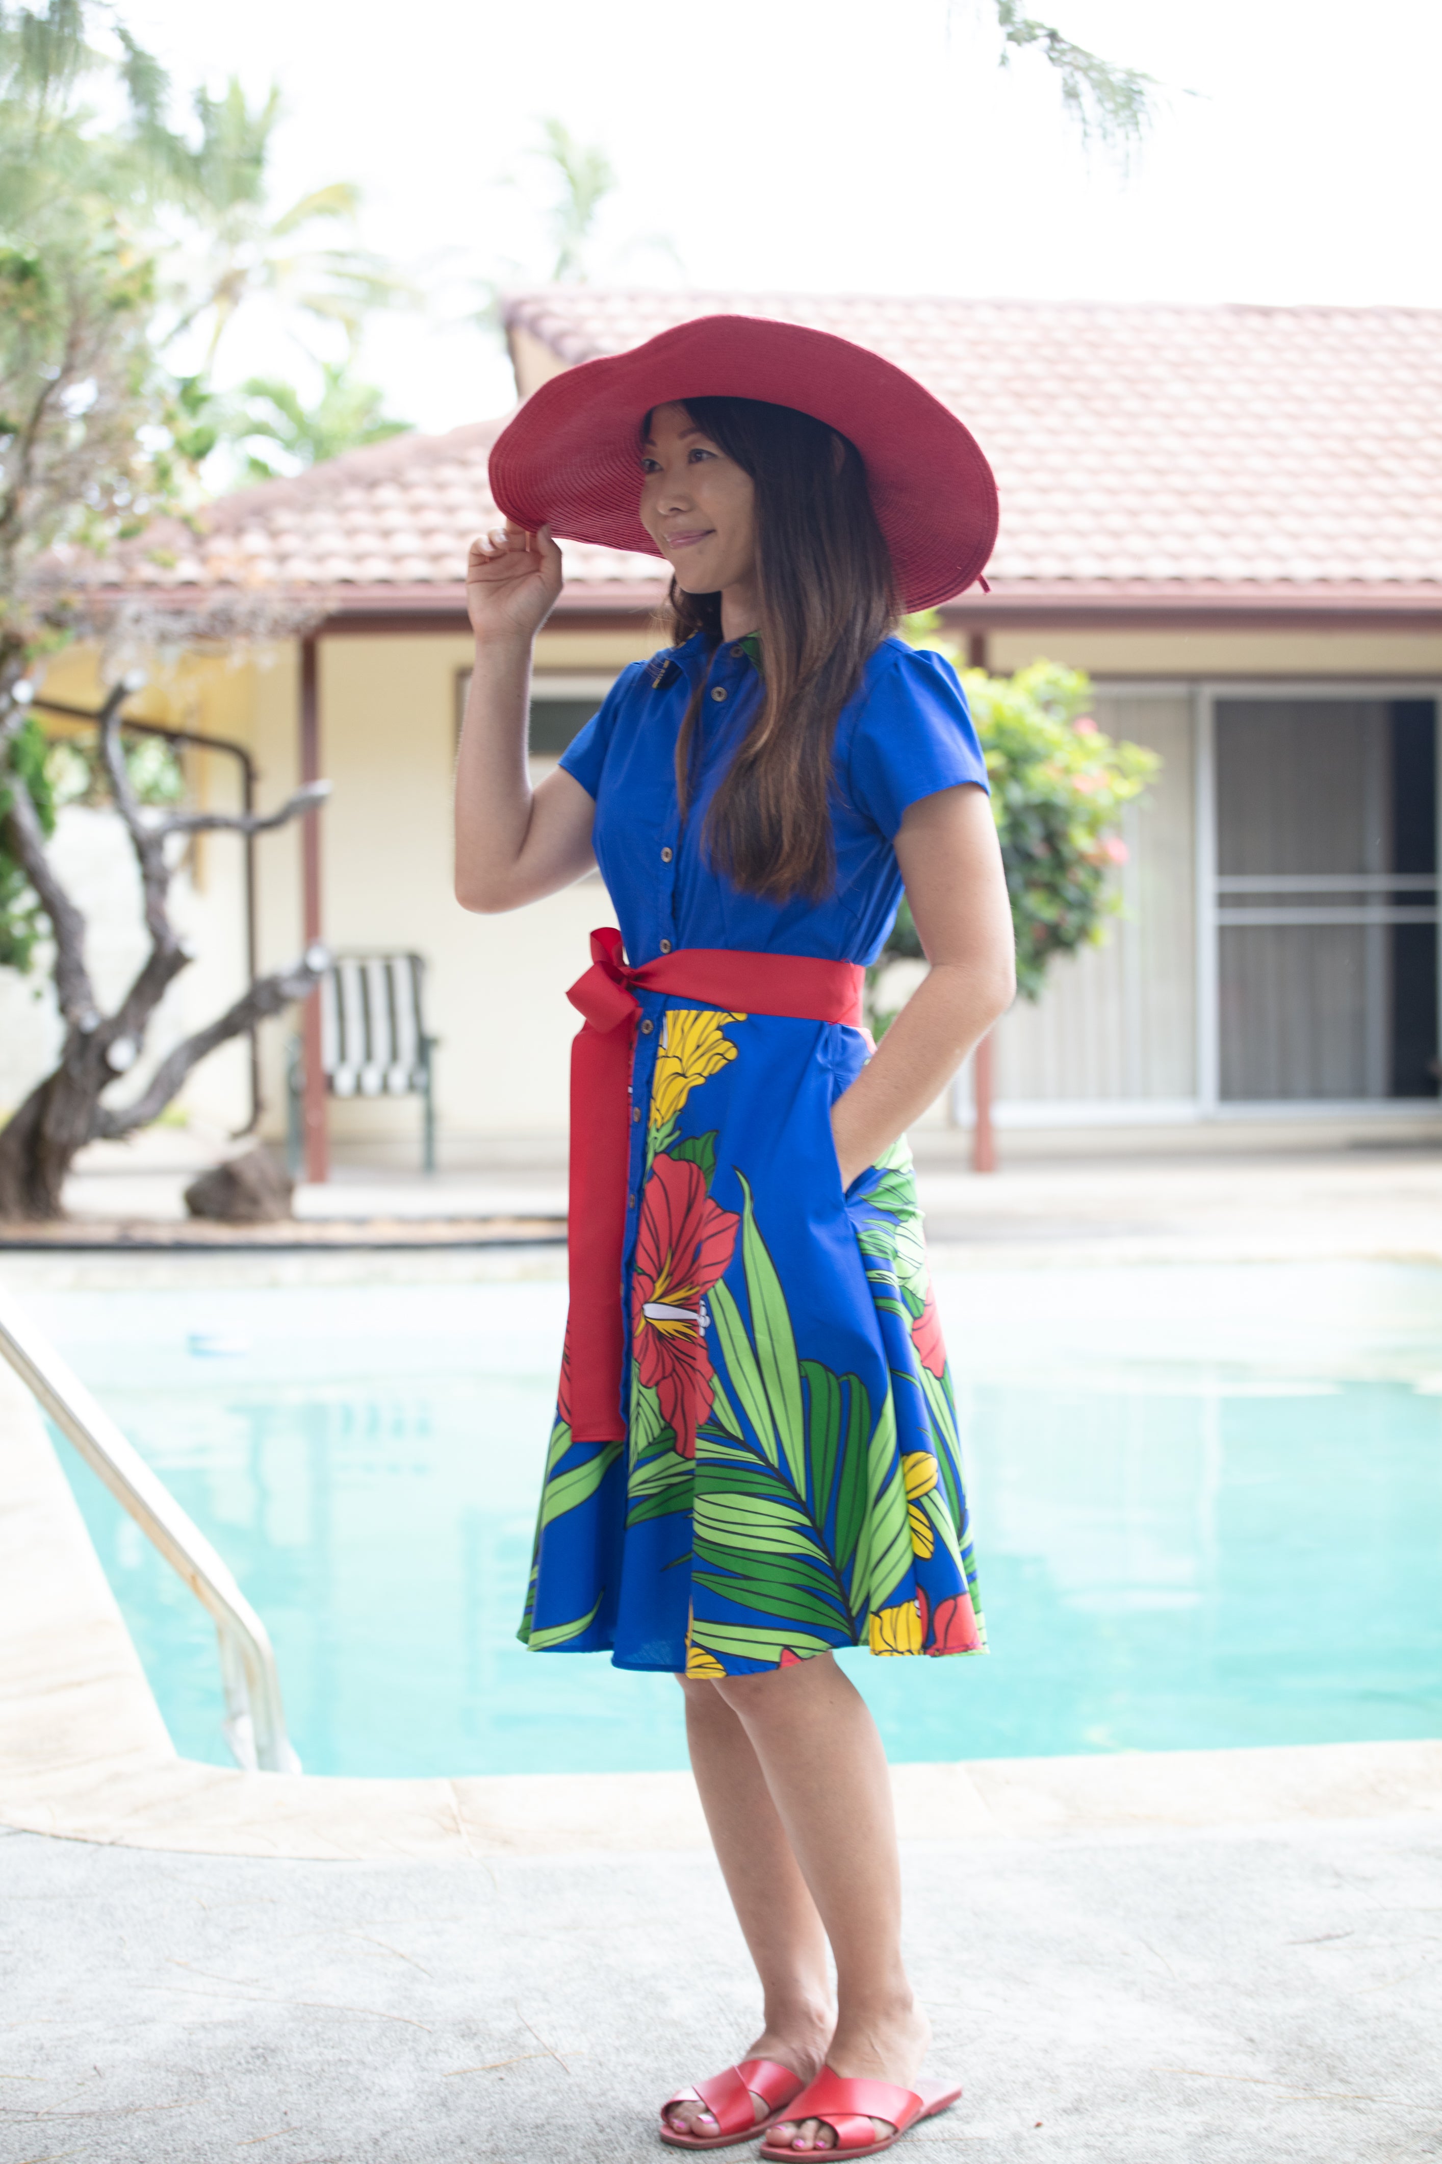
[[[921,796],[964,781],[984,790],[988,781],[951,662],[899,643],[882,654],[850,742],[847,794],[893,842],[908,805]]]

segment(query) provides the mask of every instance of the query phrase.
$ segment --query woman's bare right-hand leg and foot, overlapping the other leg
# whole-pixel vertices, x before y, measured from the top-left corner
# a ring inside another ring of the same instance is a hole
[[[902,1872],[886,1753],[860,1692],[830,1653],[711,1690],[755,1751],[778,1826],[837,1961],[837,2032],[826,2064],[910,2088],[932,2028],[902,1965]],[[735,1896],[733,1896],[735,1898]],[[878,2134],[891,2132],[880,2121]],[[815,2119],[770,2136],[830,2149]]]

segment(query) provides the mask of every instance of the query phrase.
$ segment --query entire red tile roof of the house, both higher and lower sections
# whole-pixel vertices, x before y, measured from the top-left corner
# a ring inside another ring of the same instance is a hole
[[[956,407],[1001,485],[986,615],[1442,606],[1442,309],[564,286],[515,294],[506,320],[571,366],[722,309],[876,346]],[[175,602],[285,591],[346,615],[454,612],[465,545],[495,524],[499,426],[396,437],[221,498],[199,535],[149,535],[97,582]],[[655,597],[653,558],[566,543],[562,606]]]

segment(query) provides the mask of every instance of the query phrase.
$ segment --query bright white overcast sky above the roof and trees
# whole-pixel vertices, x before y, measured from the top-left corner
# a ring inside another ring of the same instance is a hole
[[[426,428],[502,411],[471,283],[536,281],[538,119],[610,154],[597,279],[813,292],[1442,305],[1442,0],[1031,0],[1167,84],[1129,177],[990,0],[132,0],[179,89],[277,80],[277,197],[365,193],[435,288],[365,368]],[[675,251],[675,255],[670,253]],[[515,268],[510,268],[515,266]],[[238,368],[294,364],[268,327]]]

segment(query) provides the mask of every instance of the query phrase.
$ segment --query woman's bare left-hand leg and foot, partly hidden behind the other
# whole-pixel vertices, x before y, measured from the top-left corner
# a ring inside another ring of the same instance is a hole
[[[835,2019],[822,1919],[742,1720],[716,1684],[677,1681],[685,1690],[685,1736],[707,1826],[761,1978],[765,2026],[742,2056],[780,2060],[811,2080]],[[703,2103],[677,2103],[668,2116],[679,2132],[716,2132]]]

